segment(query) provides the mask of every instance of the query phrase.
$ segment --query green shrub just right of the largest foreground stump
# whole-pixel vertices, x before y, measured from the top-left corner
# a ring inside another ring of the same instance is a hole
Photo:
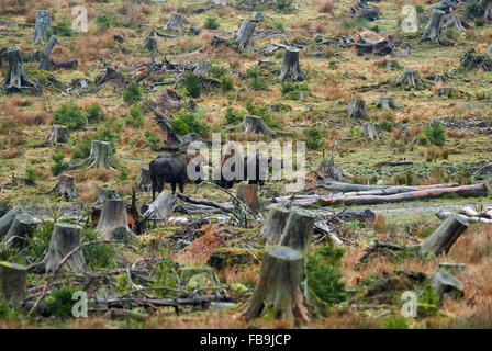
[[[340,281],[344,252],[334,245],[326,245],[308,257],[308,286],[325,303],[336,304],[346,299],[345,284]]]

